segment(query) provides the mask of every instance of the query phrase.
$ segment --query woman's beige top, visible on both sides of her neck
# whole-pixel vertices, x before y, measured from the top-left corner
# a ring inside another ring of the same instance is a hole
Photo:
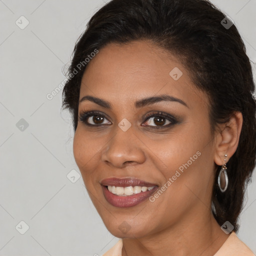
[[[120,239],[103,256],[121,256],[122,240]],[[255,256],[253,252],[236,236],[233,231],[213,256]]]

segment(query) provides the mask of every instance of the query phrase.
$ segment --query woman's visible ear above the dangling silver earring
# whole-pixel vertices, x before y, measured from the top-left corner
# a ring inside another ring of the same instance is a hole
[[[226,163],[234,154],[238,146],[241,128],[241,112],[234,112],[228,122],[220,124],[219,130],[215,134],[214,161],[217,165]],[[226,157],[225,154],[227,155]]]

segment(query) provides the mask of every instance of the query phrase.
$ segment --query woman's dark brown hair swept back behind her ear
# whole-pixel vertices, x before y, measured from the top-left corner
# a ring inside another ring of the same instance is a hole
[[[227,190],[222,193],[215,182],[212,192],[215,219],[219,225],[228,220],[236,231],[244,191],[255,166],[255,98],[245,46],[234,24],[229,28],[221,24],[224,18],[207,0],[111,0],[91,17],[75,44],[68,74],[74,70],[78,73],[70,76],[64,86],[62,106],[70,110],[75,130],[84,59],[110,42],[145,39],[174,54],[189,71],[195,86],[209,96],[213,129],[233,112],[242,113],[239,144],[226,164]]]

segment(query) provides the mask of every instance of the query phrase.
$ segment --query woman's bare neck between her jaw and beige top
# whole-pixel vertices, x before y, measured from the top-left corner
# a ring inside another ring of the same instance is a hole
[[[189,214],[190,215],[190,214]],[[178,224],[144,237],[123,238],[122,256],[175,255],[212,256],[222,246],[225,234],[213,215],[185,217]]]

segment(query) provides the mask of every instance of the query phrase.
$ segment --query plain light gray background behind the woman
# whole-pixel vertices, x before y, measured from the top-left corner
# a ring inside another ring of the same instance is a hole
[[[256,1],[212,2],[235,22],[255,62]],[[102,254],[118,240],[103,225],[82,178],[67,178],[72,169],[79,173],[70,116],[60,110],[61,92],[46,98],[63,81],[74,42],[103,4],[0,0],[0,255]],[[15,23],[21,15],[29,21],[24,29]],[[254,253],[255,174],[238,232]],[[29,226],[24,234],[21,220]]]

